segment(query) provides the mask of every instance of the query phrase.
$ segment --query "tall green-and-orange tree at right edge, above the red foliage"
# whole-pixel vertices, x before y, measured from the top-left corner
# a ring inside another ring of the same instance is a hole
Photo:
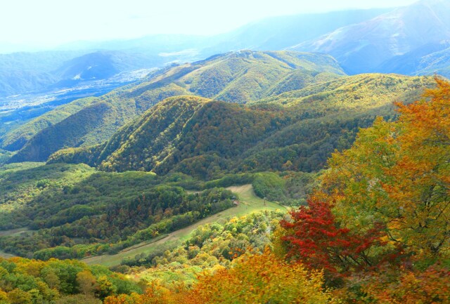
[[[321,189],[347,227],[385,223],[392,246],[416,254],[437,255],[450,240],[450,84],[436,81],[428,100],[397,104],[399,121],[378,118],[333,154]]]

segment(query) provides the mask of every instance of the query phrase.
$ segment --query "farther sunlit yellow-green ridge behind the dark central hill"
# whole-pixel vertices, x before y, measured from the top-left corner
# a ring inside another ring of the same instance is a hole
[[[3,147],[23,147],[12,161],[45,161],[62,147],[108,140],[120,126],[174,95],[248,103],[343,75],[338,63],[328,55],[285,51],[216,55],[155,72],[148,82],[125,86],[94,100],[75,101],[76,107],[69,103],[6,133]],[[75,110],[79,105],[82,109]],[[98,107],[104,109],[98,111]],[[43,122],[51,124],[48,130]]]

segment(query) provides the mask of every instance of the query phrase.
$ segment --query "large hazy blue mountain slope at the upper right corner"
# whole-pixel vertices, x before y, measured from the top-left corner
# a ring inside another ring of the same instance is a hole
[[[425,62],[420,58],[441,51],[436,46],[442,43],[445,46],[445,41],[449,40],[450,2],[423,0],[364,22],[340,27],[292,49],[333,55],[349,74],[401,72],[402,64],[395,62],[405,60],[409,63],[407,74],[420,74],[427,69],[427,66],[420,66]],[[428,65],[432,64],[428,62]],[[439,68],[435,72],[439,72]]]

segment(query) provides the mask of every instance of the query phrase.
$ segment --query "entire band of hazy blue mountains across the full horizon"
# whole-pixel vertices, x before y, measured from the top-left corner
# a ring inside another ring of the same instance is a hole
[[[120,72],[193,62],[243,49],[326,53],[335,57],[347,74],[437,73],[447,77],[449,20],[448,1],[422,0],[393,10],[268,18],[213,37],[160,34],[79,41],[60,46],[58,51],[0,55],[0,98],[71,88]]]

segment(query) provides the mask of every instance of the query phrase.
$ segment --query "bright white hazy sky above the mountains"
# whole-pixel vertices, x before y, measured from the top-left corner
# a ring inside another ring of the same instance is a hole
[[[146,34],[217,34],[274,15],[416,0],[0,0],[0,44],[57,45]]]

